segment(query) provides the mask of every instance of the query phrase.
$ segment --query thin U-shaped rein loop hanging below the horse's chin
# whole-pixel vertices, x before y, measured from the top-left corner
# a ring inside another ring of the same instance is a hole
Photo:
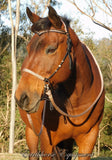
[[[32,130],[34,131],[35,135],[36,136],[40,136],[41,133],[42,133],[42,130],[43,130],[43,126],[44,126],[44,120],[45,120],[45,111],[46,111],[46,103],[47,103],[47,100],[45,100],[44,102],[44,109],[43,109],[43,116],[42,116],[42,125],[41,125],[41,129],[40,129],[40,132],[37,133],[35,131],[35,128],[34,128],[34,125],[33,125],[33,121],[32,121],[32,118],[31,118],[31,115],[29,113],[27,113],[27,118],[28,118],[28,121],[32,127]]]

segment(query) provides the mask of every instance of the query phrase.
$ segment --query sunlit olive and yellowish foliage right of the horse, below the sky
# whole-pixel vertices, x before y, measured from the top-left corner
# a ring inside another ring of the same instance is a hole
[[[92,36],[85,36],[83,41],[90,48],[100,65],[104,77],[106,96],[112,100],[112,39],[103,38],[95,41],[92,39]],[[105,102],[100,132],[100,155],[112,157],[112,103],[107,100]],[[98,143],[96,147],[98,149]]]

